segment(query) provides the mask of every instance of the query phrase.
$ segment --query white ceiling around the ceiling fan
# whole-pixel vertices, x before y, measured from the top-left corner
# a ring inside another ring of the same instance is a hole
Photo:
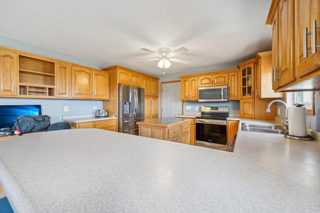
[[[271,49],[271,0],[0,0],[0,35],[83,58],[159,75],[142,51],[189,51],[166,73],[237,64]],[[102,67],[101,67],[102,68]]]

